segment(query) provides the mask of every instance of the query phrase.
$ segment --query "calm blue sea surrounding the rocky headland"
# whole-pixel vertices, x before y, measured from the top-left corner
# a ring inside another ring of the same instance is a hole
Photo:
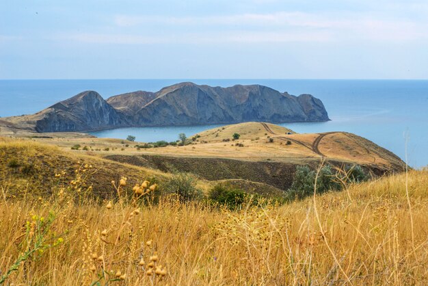
[[[299,133],[348,131],[361,135],[405,159],[415,168],[428,165],[428,81],[317,79],[97,79],[0,80],[0,116],[31,114],[83,90],[105,99],[135,90],[157,91],[180,81],[210,86],[258,83],[290,94],[321,99],[332,119],[319,123],[283,124]],[[178,133],[198,133],[211,126],[126,128],[94,132],[99,137],[138,141],[172,141]],[[406,148],[407,142],[407,148]]]

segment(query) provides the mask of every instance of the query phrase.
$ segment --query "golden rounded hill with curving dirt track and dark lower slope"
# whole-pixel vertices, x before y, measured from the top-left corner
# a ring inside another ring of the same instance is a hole
[[[232,135],[239,133],[239,139]],[[191,135],[187,146],[125,149],[106,159],[164,172],[193,172],[207,180],[245,179],[287,190],[295,168],[359,164],[373,176],[403,172],[404,162],[358,135],[345,132],[297,134],[264,122],[227,125]]]

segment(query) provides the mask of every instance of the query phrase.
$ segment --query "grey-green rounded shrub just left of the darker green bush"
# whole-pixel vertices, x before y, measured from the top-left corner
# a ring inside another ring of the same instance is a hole
[[[165,183],[165,190],[174,192],[181,201],[197,200],[202,198],[202,190],[196,187],[196,177],[193,174],[178,172]]]

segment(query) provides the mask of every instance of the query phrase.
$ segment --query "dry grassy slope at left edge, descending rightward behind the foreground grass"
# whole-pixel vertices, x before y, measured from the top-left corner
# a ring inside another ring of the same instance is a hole
[[[102,159],[84,153],[63,151],[55,146],[40,144],[32,140],[0,138],[0,177],[10,196],[30,193],[49,196],[53,187],[62,181],[75,178],[76,170],[85,169],[86,185],[93,185],[95,196],[111,196],[112,180],[129,177],[130,182],[156,176],[165,179],[168,174],[147,168]],[[87,166],[87,168],[85,168]],[[91,168],[89,168],[91,167]],[[61,174],[61,179],[55,174]]]

